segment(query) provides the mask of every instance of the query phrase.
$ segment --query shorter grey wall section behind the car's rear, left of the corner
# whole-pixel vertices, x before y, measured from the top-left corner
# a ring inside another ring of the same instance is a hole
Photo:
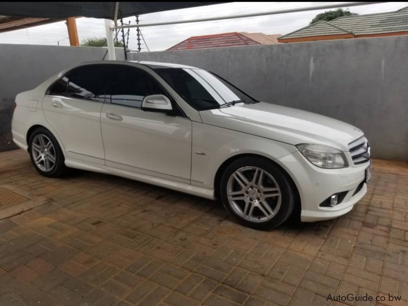
[[[0,44],[0,151],[16,148],[10,131],[17,93],[38,86],[70,65],[103,60],[106,51],[98,47]],[[116,49],[116,57],[123,59],[122,49]]]

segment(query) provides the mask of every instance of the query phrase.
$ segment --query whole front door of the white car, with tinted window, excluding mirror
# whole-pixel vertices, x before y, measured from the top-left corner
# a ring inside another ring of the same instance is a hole
[[[146,95],[172,98],[145,70],[122,65],[101,109],[105,163],[109,167],[190,183],[192,122],[173,112],[143,111]]]

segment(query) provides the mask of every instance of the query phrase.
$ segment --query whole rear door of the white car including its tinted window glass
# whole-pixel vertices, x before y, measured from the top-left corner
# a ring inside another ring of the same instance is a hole
[[[109,75],[104,64],[67,72],[46,93],[42,108],[65,147],[68,158],[105,164],[100,111]]]

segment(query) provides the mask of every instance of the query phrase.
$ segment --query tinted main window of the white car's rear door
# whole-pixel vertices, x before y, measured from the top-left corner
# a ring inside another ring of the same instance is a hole
[[[67,97],[104,102],[110,76],[106,65],[89,65],[68,74]]]

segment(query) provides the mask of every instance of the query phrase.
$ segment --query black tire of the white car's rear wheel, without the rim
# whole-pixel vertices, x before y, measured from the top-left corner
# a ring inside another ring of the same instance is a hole
[[[33,146],[33,140],[36,138],[37,135],[45,135],[52,142],[52,144],[54,146],[55,163],[54,163],[53,168],[50,169],[49,171],[44,171],[44,170],[40,169],[39,166],[34,161],[32,146]],[[34,168],[36,168],[36,170],[41,175],[44,175],[44,176],[47,176],[47,177],[60,177],[60,176],[63,176],[66,173],[67,167],[65,166],[65,163],[64,163],[65,158],[64,158],[64,154],[63,154],[63,152],[61,150],[61,147],[58,144],[58,141],[54,137],[54,135],[51,132],[49,132],[47,129],[45,129],[45,127],[38,127],[38,129],[36,129],[30,135],[28,151],[29,151],[29,154],[30,154],[31,162],[34,165]]]

